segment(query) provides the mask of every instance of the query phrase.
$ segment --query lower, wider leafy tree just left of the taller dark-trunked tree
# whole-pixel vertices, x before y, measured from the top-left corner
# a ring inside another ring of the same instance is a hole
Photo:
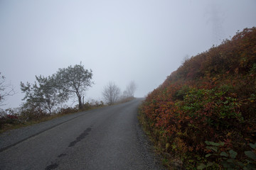
[[[40,108],[40,110],[52,113],[53,107],[67,100],[67,94],[63,91],[58,91],[56,88],[55,76],[43,77],[36,76],[35,84],[23,84],[21,82],[21,91],[25,93],[26,103],[23,105],[25,108]]]

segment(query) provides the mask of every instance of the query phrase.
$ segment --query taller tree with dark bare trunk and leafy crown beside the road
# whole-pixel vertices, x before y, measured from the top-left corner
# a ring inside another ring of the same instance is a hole
[[[79,109],[82,108],[82,94],[93,84],[91,79],[92,70],[88,71],[81,63],[59,69],[56,74],[58,89],[68,96],[77,96]]]

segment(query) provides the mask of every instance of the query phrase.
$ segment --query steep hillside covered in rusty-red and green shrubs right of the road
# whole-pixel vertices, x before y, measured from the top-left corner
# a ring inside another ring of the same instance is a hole
[[[170,169],[255,168],[256,28],[183,62],[140,120]]]

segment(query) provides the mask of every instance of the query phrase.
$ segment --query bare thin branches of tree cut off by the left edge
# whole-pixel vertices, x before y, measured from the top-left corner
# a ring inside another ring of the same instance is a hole
[[[1,76],[0,72],[0,106],[4,106],[4,101],[7,96],[15,94],[14,87],[11,84],[6,84],[5,77]]]

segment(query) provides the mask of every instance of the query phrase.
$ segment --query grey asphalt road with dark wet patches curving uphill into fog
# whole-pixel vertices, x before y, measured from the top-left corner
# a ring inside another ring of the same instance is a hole
[[[139,127],[141,101],[1,134],[14,142],[0,143],[0,169],[163,169]]]

